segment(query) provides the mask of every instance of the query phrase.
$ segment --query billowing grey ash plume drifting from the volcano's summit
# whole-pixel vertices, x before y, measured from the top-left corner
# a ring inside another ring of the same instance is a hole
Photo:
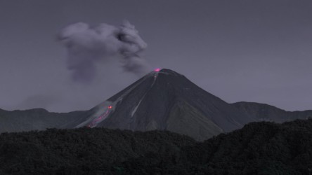
[[[149,66],[140,53],[147,44],[138,35],[130,22],[119,27],[100,24],[90,27],[84,22],[69,25],[58,35],[67,48],[67,69],[72,71],[75,81],[87,83],[96,76],[96,64],[110,57],[122,57],[124,71],[141,76]]]

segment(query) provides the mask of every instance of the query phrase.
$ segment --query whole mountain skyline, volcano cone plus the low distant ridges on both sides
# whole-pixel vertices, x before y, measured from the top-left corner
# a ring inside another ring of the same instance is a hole
[[[254,121],[306,119],[312,111],[287,112],[267,104],[228,104],[185,76],[152,71],[89,111],[51,113],[44,109],[0,109],[0,132],[46,128],[107,127],[122,130],[168,130],[202,141]]]

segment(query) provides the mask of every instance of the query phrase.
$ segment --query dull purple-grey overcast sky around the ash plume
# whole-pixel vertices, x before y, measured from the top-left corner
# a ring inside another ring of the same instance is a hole
[[[74,22],[127,19],[168,68],[226,102],[312,109],[311,0],[0,0],[0,109],[86,110],[138,77],[100,63],[93,83],[70,79],[56,34]]]

